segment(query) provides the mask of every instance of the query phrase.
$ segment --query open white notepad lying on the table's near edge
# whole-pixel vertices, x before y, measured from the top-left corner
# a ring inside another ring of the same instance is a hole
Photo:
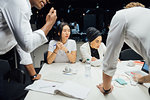
[[[65,96],[78,99],[85,99],[90,91],[89,88],[72,81],[57,83],[45,80],[37,80],[33,84],[27,86],[25,89],[50,94],[57,94],[58,92],[60,92]]]

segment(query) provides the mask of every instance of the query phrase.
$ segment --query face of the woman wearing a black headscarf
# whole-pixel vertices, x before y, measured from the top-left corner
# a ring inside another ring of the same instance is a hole
[[[98,36],[96,39],[94,39],[91,43],[90,46],[92,48],[98,49],[99,46],[101,45],[102,42],[102,36]]]

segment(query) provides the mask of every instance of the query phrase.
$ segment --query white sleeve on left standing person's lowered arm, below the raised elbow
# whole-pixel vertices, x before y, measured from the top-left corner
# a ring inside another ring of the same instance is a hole
[[[29,65],[33,63],[30,53],[23,51],[19,45],[16,45],[16,49],[20,56],[20,64]]]

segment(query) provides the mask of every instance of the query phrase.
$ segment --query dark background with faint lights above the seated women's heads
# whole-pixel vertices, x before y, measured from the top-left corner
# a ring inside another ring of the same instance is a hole
[[[42,10],[32,9],[31,24],[41,28],[45,24],[45,17],[51,7],[57,10],[57,20],[61,18],[65,22],[77,22],[80,32],[86,32],[89,26],[96,27],[103,32],[103,42],[106,43],[108,26],[117,10],[129,2],[140,2],[147,8],[150,7],[150,0],[50,0]],[[54,26],[55,27],[55,26]],[[50,31],[54,32],[54,29]],[[51,33],[49,37],[51,37]]]

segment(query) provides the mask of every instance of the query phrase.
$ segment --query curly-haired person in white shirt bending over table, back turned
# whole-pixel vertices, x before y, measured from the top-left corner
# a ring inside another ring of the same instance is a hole
[[[125,43],[140,54],[150,66],[150,10],[138,2],[131,2],[126,9],[117,11],[110,24],[103,62],[103,83],[97,85],[100,91],[112,91],[111,80],[116,71],[119,53]],[[150,82],[150,75],[136,74],[139,83]]]

